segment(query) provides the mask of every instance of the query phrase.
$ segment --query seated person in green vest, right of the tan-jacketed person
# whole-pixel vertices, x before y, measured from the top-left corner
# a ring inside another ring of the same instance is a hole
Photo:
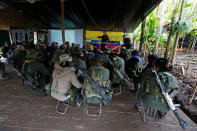
[[[101,55],[98,55],[93,59],[93,64],[90,67],[88,74],[89,76],[91,76],[91,78],[94,81],[99,81],[99,84],[103,88],[110,88],[110,80],[109,80],[110,72],[107,68],[103,67],[103,58]],[[103,100],[102,96],[95,91],[94,87],[91,85],[91,83],[87,79],[84,80],[83,88],[85,90],[84,98],[87,103],[107,104]],[[108,95],[110,98],[112,97],[112,93],[108,90],[106,90],[103,93]]]

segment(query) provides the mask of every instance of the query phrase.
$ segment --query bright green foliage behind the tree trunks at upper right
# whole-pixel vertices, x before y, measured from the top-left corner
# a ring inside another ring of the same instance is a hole
[[[164,2],[165,1],[165,2]],[[159,39],[160,47],[165,47],[165,44],[168,39],[169,32],[163,32],[161,35],[157,35],[157,25],[160,23],[162,8],[165,7],[165,17],[164,17],[164,25],[167,25],[171,22],[171,17],[173,14],[174,4],[178,2],[176,17],[180,14],[180,7],[182,0],[164,0],[160,5],[159,9],[156,8],[152,11],[146,18],[146,29],[145,36],[142,37],[144,42],[149,44],[149,49],[154,47],[154,44]],[[167,4],[166,4],[167,3]],[[166,7],[167,6],[167,7]],[[157,15],[157,16],[156,16]],[[197,37],[197,0],[186,0],[186,4],[184,6],[184,13],[181,21],[176,22],[173,25],[173,34],[180,32],[180,37],[183,37],[185,34],[190,34],[191,41],[195,37]],[[175,19],[177,21],[177,19]],[[141,26],[139,26],[134,32],[133,37],[136,43],[140,43],[140,35],[141,35]],[[173,47],[175,35],[170,43],[170,47]]]

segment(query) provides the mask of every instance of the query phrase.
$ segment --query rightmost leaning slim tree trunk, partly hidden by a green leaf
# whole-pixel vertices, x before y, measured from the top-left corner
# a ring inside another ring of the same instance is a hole
[[[179,15],[179,21],[182,19],[184,7],[185,7],[185,0],[182,0],[181,11],[180,11],[180,15]],[[177,45],[179,43],[179,35],[180,35],[180,33],[177,32],[174,47],[173,47],[173,52],[172,52],[172,64],[174,64],[174,59],[175,59],[175,56],[176,56],[176,49],[177,49]]]

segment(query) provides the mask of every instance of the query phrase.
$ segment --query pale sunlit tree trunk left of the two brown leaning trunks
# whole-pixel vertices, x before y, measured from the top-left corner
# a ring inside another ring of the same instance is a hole
[[[160,21],[158,23],[158,30],[157,30],[157,35],[160,37],[162,34],[162,30],[163,30],[163,24],[164,24],[164,18],[165,18],[165,11],[167,8],[167,3],[164,1],[164,4],[161,8],[161,14],[158,16],[160,18]],[[153,53],[156,54],[157,53],[157,48],[158,48],[158,44],[159,44],[159,39],[156,40],[156,43],[154,45],[154,50]]]

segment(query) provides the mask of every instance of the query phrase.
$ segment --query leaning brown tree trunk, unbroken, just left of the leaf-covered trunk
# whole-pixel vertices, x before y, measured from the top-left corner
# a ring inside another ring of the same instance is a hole
[[[169,35],[168,35],[168,40],[167,40],[167,44],[166,44],[166,51],[165,51],[165,54],[164,54],[164,58],[168,58],[169,45],[170,45],[170,42],[171,42],[171,39],[172,39],[172,29],[173,29],[173,24],[174,24],[174,21],[175,21],[178,2],[176,1],[176,3],[174,5],[175,6],[174,6],[172,19],[171,19],[171,23],[170,23],[170,31],[169,31]]]

